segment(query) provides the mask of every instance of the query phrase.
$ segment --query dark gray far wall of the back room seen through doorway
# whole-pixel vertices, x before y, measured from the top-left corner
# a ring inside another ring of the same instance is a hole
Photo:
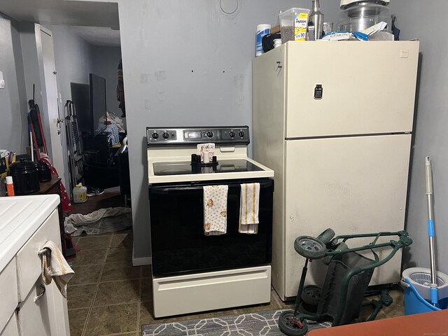
[[[120,104],[117,100],[117,68],[121,59],[120,47],[92,46],[93,73],[106,78],[107,111],[121,116]]]

